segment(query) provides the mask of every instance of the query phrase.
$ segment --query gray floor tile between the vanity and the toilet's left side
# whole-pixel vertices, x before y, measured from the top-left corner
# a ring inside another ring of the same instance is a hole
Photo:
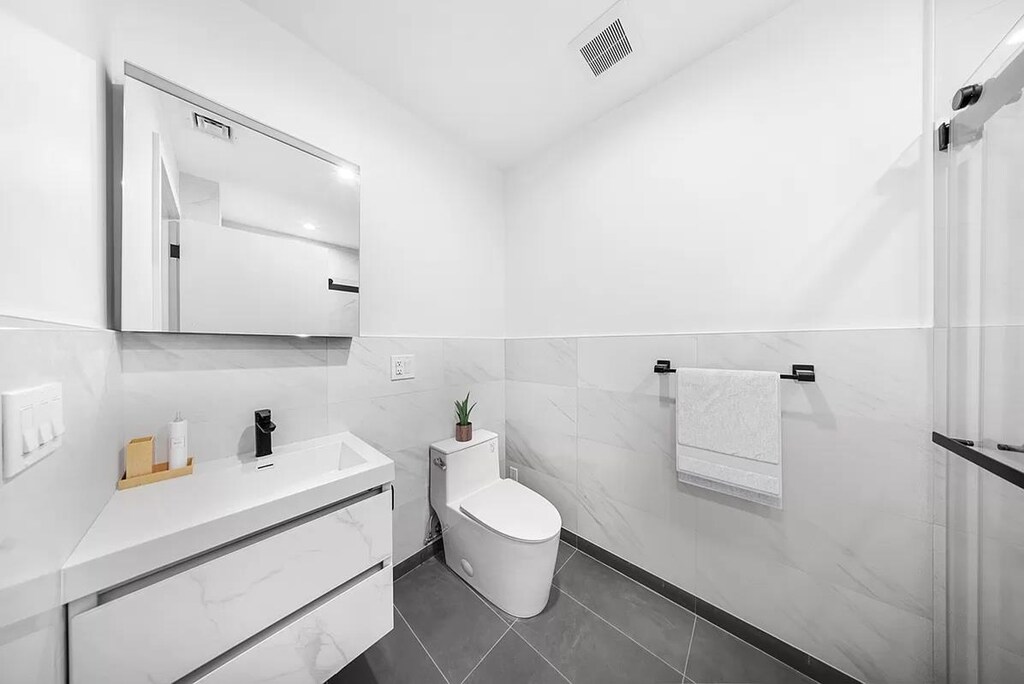
[[[395,583],[394,603],[452,682],[462,682],[508,629],[436,558]]]

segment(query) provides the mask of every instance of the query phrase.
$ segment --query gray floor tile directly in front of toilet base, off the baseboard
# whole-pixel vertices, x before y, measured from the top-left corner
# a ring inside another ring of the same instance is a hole
[[[679,684],[683,678],[554,587],[544,611],[512,629],[579,684]]]

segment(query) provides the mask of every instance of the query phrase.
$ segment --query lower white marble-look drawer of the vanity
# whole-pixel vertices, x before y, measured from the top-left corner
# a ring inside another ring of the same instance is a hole
[[[200,684],[323,684],[394,627],[391,567],[378,570],[200,677]]]

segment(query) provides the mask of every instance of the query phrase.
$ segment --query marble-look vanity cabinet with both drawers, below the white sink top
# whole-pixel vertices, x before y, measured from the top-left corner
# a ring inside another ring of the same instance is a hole
[[[69,609],[70,680],[323,682],[392,628],[377,488]]]

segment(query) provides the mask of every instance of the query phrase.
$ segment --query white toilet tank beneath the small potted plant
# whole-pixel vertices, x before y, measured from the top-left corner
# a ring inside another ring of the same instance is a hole
[[[437,461],[444,464],[441,468]],[[498,435],[475,430],[470,441],[445,439],[430,445],[430,503],[440,510],[501,477]]]

